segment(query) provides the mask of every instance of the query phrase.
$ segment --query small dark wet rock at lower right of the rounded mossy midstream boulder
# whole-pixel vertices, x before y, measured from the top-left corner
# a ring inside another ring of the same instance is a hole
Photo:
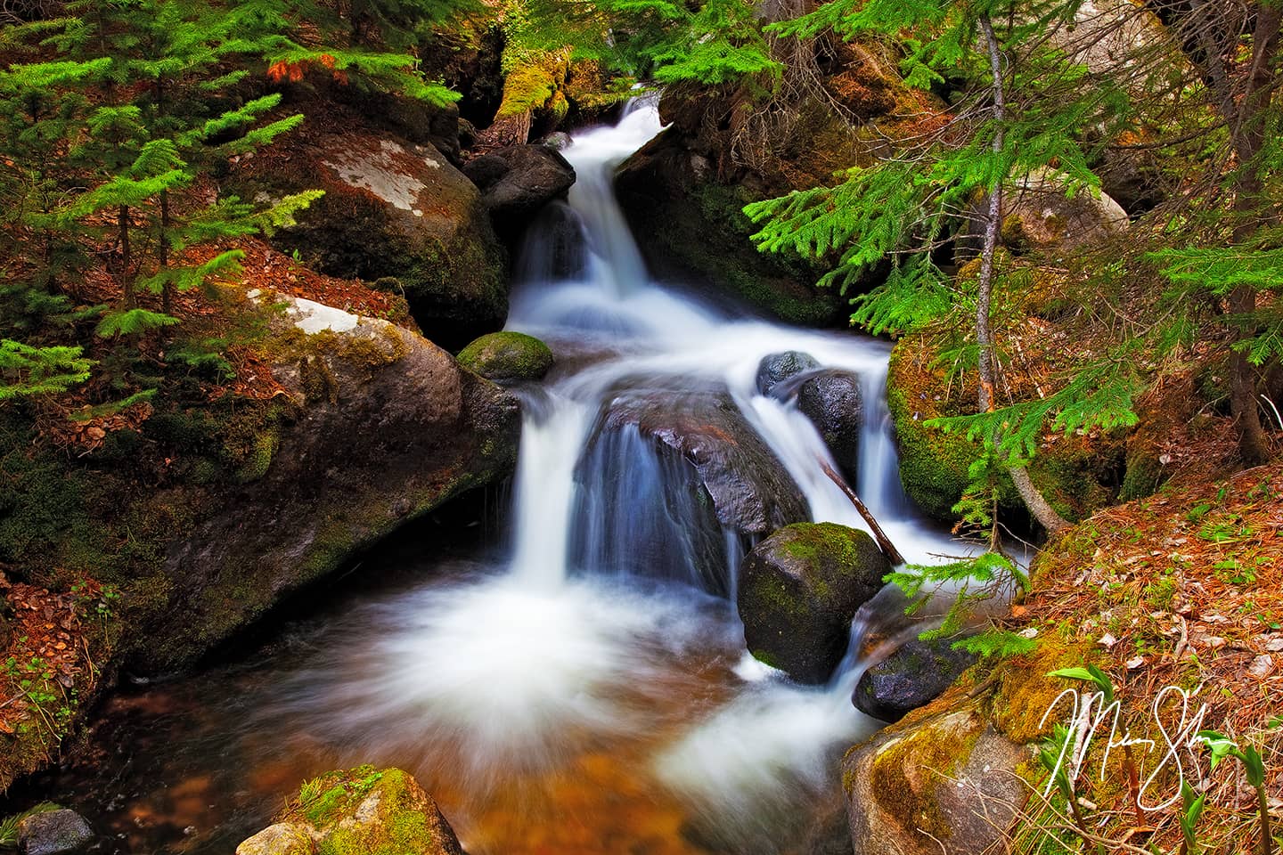
[[[898,722],[925,706],[953,685],[978,656],[953,650],[957,638],[913,638],[861,676],[852,702],[862,713],[884,722]]]

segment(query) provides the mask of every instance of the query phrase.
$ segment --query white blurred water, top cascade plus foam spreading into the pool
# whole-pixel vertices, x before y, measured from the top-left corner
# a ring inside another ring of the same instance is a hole
[[[826,687],[793,685],[743,660],[731,605],[685,587],[734,596],[742,545],[716,524],[690,531],[706,511],[665,492],[676,476],[635,432],[593,445],[598,414],[621,390],[672,390],[675,401],[718,390],[783,463],[812,519],[866,528],[824,474],[822,463],[837,465],[811,422],[756,390],[758,363],[780,351],[853,372],[865,502],[910,561],[966,551],[901,491],[888,344],[735,315],[649,279],[612,178],[658,131],[656,109],[640,104],[616,127],[576,135],[565,151],[577,172],[570,204],[531,231],[508,326],[581,367],[522,392],[508,565],[382,604],[367,618],[377,632],[345,636],[282,701],[284,715],[305,710],[353,759],[405,755],[434,779],[446,776],[464,837],[470,805],[516,787],[516,772],[572,774],[585,754],[617,750],[644,754],[635,774],[715,834],[774,851],[779,841],[761,841],[831,786],[840,749],[876,726],[851,704],[856,656]],[[712,577],[685,567],[711,554],[725,565]]]

